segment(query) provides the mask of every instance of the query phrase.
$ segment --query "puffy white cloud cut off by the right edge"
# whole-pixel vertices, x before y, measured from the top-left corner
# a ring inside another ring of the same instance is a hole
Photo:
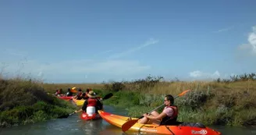
[[[238,48],[256,55],[256,26],[252,27],[252,32],[248,34],[247,41],[248,44],[241,44]]]

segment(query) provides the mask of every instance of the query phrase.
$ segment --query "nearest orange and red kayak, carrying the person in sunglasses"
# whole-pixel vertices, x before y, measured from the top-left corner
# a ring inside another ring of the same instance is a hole
[[[102,119],[105,119],[106,122],[118,126],[121,130],[122,125],[126,123],[130,118],[123,115],[114,115],[108,112],[104,112],[102,110],[98,110],[99,115],[101,115]],[[196,127],[196,126],[158,126],[153,124],[140,124],[135,123],[130,130],[137,131],[139,133],[159,133],[159,134],[175,134],[175,135],[220,135],[216,130],[212,130],[208,127]]]

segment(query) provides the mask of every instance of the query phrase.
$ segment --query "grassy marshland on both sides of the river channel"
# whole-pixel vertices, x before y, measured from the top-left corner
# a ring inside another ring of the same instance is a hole
[[[113,93],[105,105],[125,108],[130,116],[139,117],[162,105],[165,94],[176,96],[180,108],[179,121],[200,122],[205,125],[256,126],[256,77],[254,73],[232,76],[229,80],[162,81],[162,77],[148,76],[132,82],[112,83],[41,83],[30,80],[0,79],[0,125],[34,123],[62,117],[74,107],[66,101],[49,96],[56,89],[91,87],[101,95]],[[158,109],[161,112],[162,108]]]

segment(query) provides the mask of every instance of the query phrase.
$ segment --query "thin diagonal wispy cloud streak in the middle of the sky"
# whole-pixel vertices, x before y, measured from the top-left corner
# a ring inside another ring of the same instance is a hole
[[[144,44],[141,44],[140,46],[137,46],[135,48],[130,48],[130,49],[126,50],[125,52],[120,52],[120,53],[116,53],[114,55],[111,55],[111,56],[108,57],[108,59],[117,59],[117,58],[120,58],[124,55],[129,55],[133,52],[139,51],[142,48],[146,48],[149,45],[157,44],[157,43],[158,43],[158,40],[155,40],[154,38],[151,38],[148,41],[145,41]]]

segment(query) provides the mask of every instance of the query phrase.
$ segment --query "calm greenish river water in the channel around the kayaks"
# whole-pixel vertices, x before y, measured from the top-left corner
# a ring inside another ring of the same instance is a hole
[[[112,106],[104,106],[106,112],[118,115],[127,115],[126,111]],[[224,135],[256,135],[256,128],[237,128],[226,126],[210,126]],[[0,135],[136,135],[137,132],[123,133],[116,126],[112,126],[103,119],[84,121],[79,114],[69,116],[67,119],[52,119],[46,122],[28,124],[0,129]]]

